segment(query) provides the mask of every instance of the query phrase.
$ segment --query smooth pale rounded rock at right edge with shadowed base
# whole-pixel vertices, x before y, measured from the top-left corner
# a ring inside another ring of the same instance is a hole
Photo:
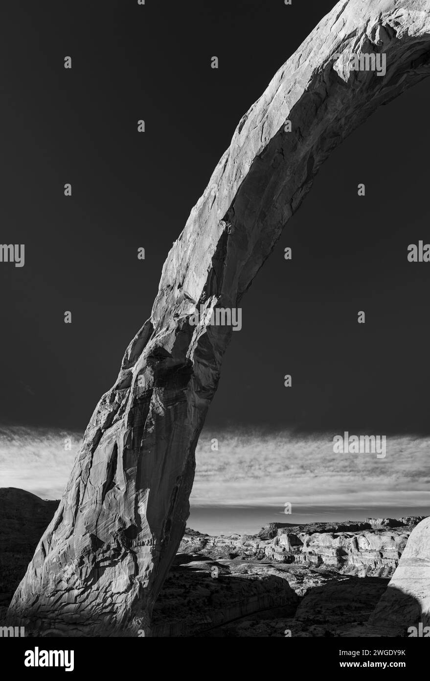
[[[384,635],[408,635],[409,627],[430,626],[430,518],[412,531],[399,566],[374,613],[369,627]]]

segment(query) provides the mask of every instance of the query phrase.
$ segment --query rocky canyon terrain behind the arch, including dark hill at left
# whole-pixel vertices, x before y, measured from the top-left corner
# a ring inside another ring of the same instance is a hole
[[[0,586],[7,587],[0,593],[2,621],[9,587],[20,582],[57,505],[24,490],[0,489]],[[384,606],[385,627],[366,622],[419,521],[269,523],[259,535],[218,537],[186,528],[154,605],[151,635],[283,636],[285,629],[295,637],[404,635],[405,612],[418,601],[412,592],[403,599],[399,584]],[[275,535],[261,536],[275,526]],[[414,621],[410,614],[406,620]]]

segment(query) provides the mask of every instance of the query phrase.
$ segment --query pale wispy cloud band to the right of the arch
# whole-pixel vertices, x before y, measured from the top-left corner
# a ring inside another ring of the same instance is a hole
[[[218,451],[212,440],[218,439]],[[386,457],[335,454],[333,434],[205,432],[191,499],[199,505],[430,505],[430,439],[387,437]]]

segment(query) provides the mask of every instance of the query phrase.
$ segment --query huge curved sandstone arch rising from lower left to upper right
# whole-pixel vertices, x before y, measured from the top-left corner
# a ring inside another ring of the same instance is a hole
[[[14,624],[59,636],[150,635],[232,335],[208,318],[239,306],[333,148],[429,75],[429,49],[429,2],[342,0],[243,116],[167,257],[150,319],[90,419],[10,605]],[[353,55],[368,52],[386,55],[385,76],[352,70]]]

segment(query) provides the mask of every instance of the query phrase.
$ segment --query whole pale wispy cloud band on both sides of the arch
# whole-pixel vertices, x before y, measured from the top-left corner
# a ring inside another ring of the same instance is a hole
[[[65,449],[66,439],[71,449]],[[212,451],[213,439],[218,451]],[[81,434],[0,428],[0,486],[60,498]],[[386,457],[335,454],[333,434],[259,430],[203,432],[197,446],[195,505],[430,505],[430,439],[387,437]]]

